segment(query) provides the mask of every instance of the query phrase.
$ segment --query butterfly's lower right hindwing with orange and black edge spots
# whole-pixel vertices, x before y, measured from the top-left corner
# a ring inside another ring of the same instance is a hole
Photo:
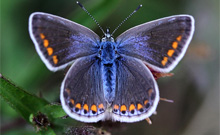
[[[116,61],[117,76],[112,119],[136,122],[150,117],[159,102],[153,75],[140,60],[122,56]]]

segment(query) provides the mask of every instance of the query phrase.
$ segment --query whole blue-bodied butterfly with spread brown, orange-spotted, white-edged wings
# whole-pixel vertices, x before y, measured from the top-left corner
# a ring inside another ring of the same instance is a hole
[[[160,99],[149,70],[167,73],[183,58],[194,33],[194,18],[175,15],[103,38],[70,20],[35,12],[29,33],[51,71],[71,63],[60,91],[65,112],[82,122],[137,122],[149,118]],[[146,66],[147,65],[147,66]]]

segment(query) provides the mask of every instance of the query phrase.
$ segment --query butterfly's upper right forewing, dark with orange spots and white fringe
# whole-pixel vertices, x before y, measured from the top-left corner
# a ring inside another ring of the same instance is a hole
[[[122,33],[116,39],[117,51],[141,59],[155,71],[169,72],[184,56],[193,33],[192,16],[166,17]]]

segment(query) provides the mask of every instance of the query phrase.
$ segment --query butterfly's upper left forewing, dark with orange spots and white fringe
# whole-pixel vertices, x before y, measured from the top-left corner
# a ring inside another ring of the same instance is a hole
[[[90,29],[51,14],[29,18],[29,33],[48,69],[65,68],[73,60],[97,53],[100,38]]]

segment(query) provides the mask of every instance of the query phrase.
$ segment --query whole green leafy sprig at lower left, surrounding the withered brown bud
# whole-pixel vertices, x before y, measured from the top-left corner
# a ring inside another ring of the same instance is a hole
[[[16,112],[20,113],[21,116],[28,122],[35,125],[39,134],[55,135],[55,132],[49,125],[37,125],[33,121],[34,117],[42,115],[45,116],[44,119],[47,119],[49,123],[54,127],[59,128],[61,131],[63,127],[62,123],[57,124],[57,120],[62,120],[62,117],[66,115],[61,105],[49,104],[46,100],[39,98],[35,95],[29,94],[23,89],[15,86],[9,80],[5,79],[0,74],[0,96],[6,101]],[[74,122],[73,120],[71,120]],[[41,120],[39,120],[41,122]]]

